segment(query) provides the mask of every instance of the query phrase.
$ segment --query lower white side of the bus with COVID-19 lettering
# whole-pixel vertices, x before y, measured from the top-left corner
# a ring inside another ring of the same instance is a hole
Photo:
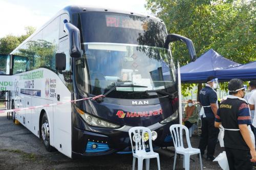
[[[71,101],[69,89],[58,75],[49,69],[38,68],[16,76],[18,83],[16,83],[17,88],[14,87],[17,89],[15,108]],[[18,111],[17,120],[37,137],[39,137],[39,115],[42,109],[46,111],[48,117],[50,144],[62,154],[71,157],[71,103],[26,110],[28,117],[25,110]]]

